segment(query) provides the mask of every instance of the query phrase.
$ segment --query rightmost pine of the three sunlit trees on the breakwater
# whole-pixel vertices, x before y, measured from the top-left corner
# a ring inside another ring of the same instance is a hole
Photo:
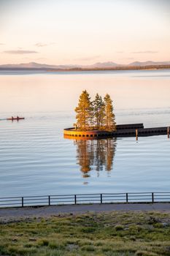
[[[104,97],[104,129],[107,131],[115,131],[115,114],[113,113],[112,99],[109,94]]]

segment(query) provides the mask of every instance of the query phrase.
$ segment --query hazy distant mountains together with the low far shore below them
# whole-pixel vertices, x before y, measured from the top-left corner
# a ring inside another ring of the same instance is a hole
[[[168,67],[170,68],[170,61],[145,61],[139,62],[135,61],[130,64],[117,64],[112,61],[108,62],[97,62],[91,65],[48,65],[39,64],[36,62],[22,63],[22,64],[5,64],[0,65],[0,69],[56,69],[56,70],[73,70],[73,69],[140,69],[140,68],[156,68],[156,67]]]

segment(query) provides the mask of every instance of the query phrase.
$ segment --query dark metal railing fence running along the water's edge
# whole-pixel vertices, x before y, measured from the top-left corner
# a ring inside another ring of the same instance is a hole
[[[83,203],[170,203],[170,192],[131,192],[79,195],[37,195],[0,197],[0,208],[24,206],[57,206]]]

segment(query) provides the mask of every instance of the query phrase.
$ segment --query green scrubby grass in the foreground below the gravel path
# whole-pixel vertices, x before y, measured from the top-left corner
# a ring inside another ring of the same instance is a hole
[[[120,211],[1,222],[0,255],[170,255],[170,214]]]

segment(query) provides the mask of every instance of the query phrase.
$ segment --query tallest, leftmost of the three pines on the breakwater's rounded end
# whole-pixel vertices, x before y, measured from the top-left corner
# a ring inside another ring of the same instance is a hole
[[[75,108],[77,113],[77,128],[80,130],[88,130],[93,126],[93,106],[90,102],[90,96],[88,91],[82,91],[79,98],[79,103],[77,108]]]

